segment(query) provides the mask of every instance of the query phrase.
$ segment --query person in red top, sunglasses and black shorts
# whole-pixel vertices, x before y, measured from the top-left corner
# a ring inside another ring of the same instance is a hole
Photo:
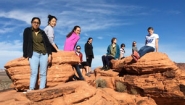
[[[85,68],[86,69],[86,76],[90,76],[88,63],[83,61],[83,54],[80,52],[80,49],[81,49],[81,47],[79,45],[77,45],[75,52],[76,52],[76,55],[78,55],[80,57],[80,63],[79,63],[80,70],[82,72],[82,69]]]

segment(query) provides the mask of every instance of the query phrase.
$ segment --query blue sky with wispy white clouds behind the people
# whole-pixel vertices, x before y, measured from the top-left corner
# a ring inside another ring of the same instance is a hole
[[[93,37],[93,68],[102,66],[112,37],[126,44],[125,56],[131,55],[131,43],[144,45],[147,28],[159,35],[159,52],[175,62],[185,62],[184,0],[1,0],[0,1],[0,68],[22,56],[22,33],[32,17],[41,18],[41,29],[47,26],[48,14],[58,18],[55,42],[61,50],[66,34],[81,26],[78,45]],[[84,57],[85,60],[85,57]]]

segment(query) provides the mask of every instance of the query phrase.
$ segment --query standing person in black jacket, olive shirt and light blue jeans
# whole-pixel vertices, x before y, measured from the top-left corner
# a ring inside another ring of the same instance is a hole
[[[47,65],[51,61],[51,46],[45,32],[39,28],[41,21],[33,17],[31,27],[25,28],[23,33],[23,59],[28,59],[31,68],[29,90],[35,89],[38,67],[40,66],[40,86],[45,88]]]

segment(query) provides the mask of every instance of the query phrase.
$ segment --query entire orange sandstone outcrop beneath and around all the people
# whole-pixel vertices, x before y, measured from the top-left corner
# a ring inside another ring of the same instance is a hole
[[[70,58],[68,54],[74,56]],[[68,60],[62,61],[65,57]],[[52,67],[48,69],[46,89],[26,94],[14,91],[20,98],[0,98],[0,104],[185,105],[185,66],[171,61],[164,53],[148,53],[137,62],[130,56],[122,60],[112,60],[112,69],[104,71],[97,67],[94,74],[85,76],[85,81],[71,82],[69,79],[75,74],[71,64],[77,62],[79,58],[73,52],[54,54]],[[28,87],[28,61],[18,63],[13,60],[5,67],[16,89]],[[4,92],[0,97],[6,95]]]

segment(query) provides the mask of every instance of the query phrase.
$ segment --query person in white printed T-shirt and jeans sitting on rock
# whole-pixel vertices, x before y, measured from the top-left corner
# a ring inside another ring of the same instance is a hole
[[[141,47],[141,49],[132,54],[132,57],[135,61],[137,61],[139,58],[144,56],[146,53],[149,52],[158,52],[158,39],[159,35],[154,33],[154,29],[152,27],[148,28],[148,35],[146,36],[145,46]]]

